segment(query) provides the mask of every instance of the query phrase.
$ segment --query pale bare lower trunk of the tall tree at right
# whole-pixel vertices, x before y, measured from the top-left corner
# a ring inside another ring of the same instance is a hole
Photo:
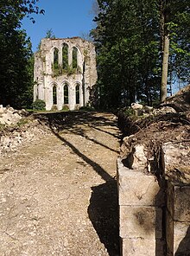
[[[162,60],[162,74],[161,74],[161,102],[165,102],[167,98],[168,56],[169,56],[169,36],[165,35],[163,60]]]

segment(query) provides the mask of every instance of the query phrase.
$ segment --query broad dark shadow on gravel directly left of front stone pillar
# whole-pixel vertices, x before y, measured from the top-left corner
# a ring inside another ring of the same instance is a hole
[[[109,255],[119,255],[119,213],[115,180],[92,187],[88,215]]]

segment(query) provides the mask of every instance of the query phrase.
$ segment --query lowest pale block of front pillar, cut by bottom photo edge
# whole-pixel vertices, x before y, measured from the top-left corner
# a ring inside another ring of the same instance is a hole
[[[122,256],[164,256],[161,240],[123,239]]]

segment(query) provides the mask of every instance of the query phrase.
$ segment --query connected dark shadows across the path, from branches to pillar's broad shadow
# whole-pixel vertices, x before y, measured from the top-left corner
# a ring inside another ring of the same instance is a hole
[[[99,240],[104,244],[107,252],[110,256],[119,255],[119,213],[117,202],[117,182],[111,177],[98,163],[95,163],[89,157],[86,157],[79,151],[73,144],[71,144],[66,138],[64,133],[59,134],[59,131],[63,129],[68,130],[76,135],[85,137],[91,140],[95,144],[104,146],[108,150],[113,150],[107,147],[105,144],[99,143],[92,138],[85,135],[85,129],[76,128],[75,125],[88,125],[91,129],[96,129],[100,132],[105,132],[113,137],[117,137],[116,134],[110,131],[104,131],[100,129],[101,126],[116,126],[117,121],[105,118],[103,116],[96,116],[96,113],[92,112],[60,112],[60,113],[44,113],[36,114],[35,117],[45,122],[64,144],[69,146],[73,153],[78,155],[85,163],[92,166],[99,176],[104,179],[104,183],[96,187],[92,187],[92,196],[90,199],[90,205],[88,207],[88,215],[92,221],[92,225],[96,230]],[[113,150],[116,151],[116,150]]]

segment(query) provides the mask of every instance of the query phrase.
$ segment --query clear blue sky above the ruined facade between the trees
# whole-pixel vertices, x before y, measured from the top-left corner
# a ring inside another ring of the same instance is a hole
[[[81,36],[94,26],[92,22],[93,0],[39,0],[38,6],[45,10],[44,15],[35,15],[35,23],[28,18],[22,21],[22,29],[27,31],[33,51],[52,29],[57,38]]]

